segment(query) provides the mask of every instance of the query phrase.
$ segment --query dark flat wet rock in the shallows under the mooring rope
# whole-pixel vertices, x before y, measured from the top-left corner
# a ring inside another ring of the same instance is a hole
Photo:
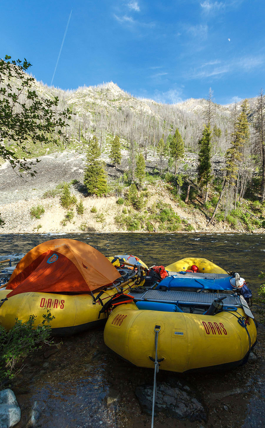
[[[160,383],[157,385],[155,410],[159,412],[162,411],[166,413],[167,416],[177,419],[206,421],[207,411],[204,409],[203,405],[199,403],[197,398],[193,396],[189,388],[186,388],[186,390],[187,392],[179,387],[170,386],[164,382]],[[135,390],[135,394],[137,395],[143,411],[151,414],[153,386],[139,386]]]

